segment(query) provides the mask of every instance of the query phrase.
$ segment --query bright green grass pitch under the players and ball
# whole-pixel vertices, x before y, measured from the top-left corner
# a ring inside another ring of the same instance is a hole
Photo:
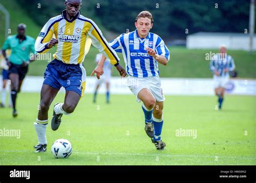
[[[58,94],[53,104],[63,100],[64,94]],[[157,151],[146,136],[135,96],[112,95],[106,104],[99,95],[93,104],[92,95],[86,94],[71,116],[63,116],[57,131],[49,123],[48,150],[35,153],[38,103],[38,93],[21,93],[17,118],[12,118],[11,109],[0,109],[0,129],[21,130],[20,138],[0,137],[0,165],[256,165],[253,96],[226,96],[221,111],[215,110],[214,96],[166,96],[164,151]],[[196,130],[196,138],[179,137],[180,128]],[[51,154],[51,144],[59,138],[73,146],[68,159]]]

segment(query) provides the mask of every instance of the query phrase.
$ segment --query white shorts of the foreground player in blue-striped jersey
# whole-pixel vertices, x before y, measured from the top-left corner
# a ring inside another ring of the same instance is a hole
[[[150,76],[147,78],[136,78],[129,76],[127,78],[127,87],[129,87],[132,93],[137,96],[137,102],[141,101],[138,98],[138,94],[143,88],[150,90],[157,102],[162,102],[165,100],[163,88],[161,87],[161,81],[158,76]]]

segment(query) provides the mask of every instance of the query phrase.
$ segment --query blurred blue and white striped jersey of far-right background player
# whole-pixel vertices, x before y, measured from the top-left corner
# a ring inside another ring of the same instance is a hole
[[[229,76],[228,72],[224,72],[224,69],[228,69],[228,71],[233,71],[235,68],[233,58],[225,54],[224,58],[221,58],[220,55],[215,55],[210,62],[210,69],[214,73],[217,70],[220,73],[221,77]],[[214,74],[215,75],[215,74]]]

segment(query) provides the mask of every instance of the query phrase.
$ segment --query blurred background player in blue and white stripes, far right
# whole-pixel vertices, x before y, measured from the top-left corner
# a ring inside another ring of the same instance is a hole
[[[224,101],[225,85],[230,79],[229,72],[235,68],[233,58],[227,54],[225,45],[220,46],[220,53],[215,55],[210,62],[210,69],[213,73],[215,95],[218,96],[219,109]]]

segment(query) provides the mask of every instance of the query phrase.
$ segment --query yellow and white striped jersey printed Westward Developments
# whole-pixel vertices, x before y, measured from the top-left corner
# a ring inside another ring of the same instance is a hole
[[[104,54],[112,65],[118,65],[117,53],[107,43],[98,26],[91,19],[80,15],[80,11],[72,20],[66,18],[66,10],[63,10],[61,15],[51,18],[36,39],[36,52],[48,52],[48,43],[54,36],[58,39],[58,44],[53,57],[66,64],[80,64],[84,61],[86,44],[91,44],[90,41],[86,42],[86,39],[90,38],[92,45]]]

